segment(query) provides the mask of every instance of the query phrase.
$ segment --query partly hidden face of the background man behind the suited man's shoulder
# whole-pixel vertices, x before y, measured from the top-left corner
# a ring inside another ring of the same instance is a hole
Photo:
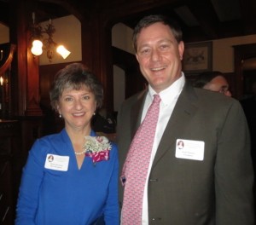
[[[231,97],[231,92],[229,90],[229,84],[227,80],[223,76],[217,76],[211,80],[208,84],[206,84],[204,89],[209,89],[212,91],[217,91],[224,95]]]

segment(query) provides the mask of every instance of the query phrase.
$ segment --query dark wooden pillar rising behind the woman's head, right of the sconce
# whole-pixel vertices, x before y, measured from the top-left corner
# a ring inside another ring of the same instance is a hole
[[[104,87],[103,107],[113,110],[113,63],[111,26],[102,14],[81,21],[83,63],[96,74]]]

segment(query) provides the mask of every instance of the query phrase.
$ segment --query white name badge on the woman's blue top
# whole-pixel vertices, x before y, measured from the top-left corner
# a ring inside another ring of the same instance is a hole
[[[67,171],[69,156],[47,154],[44,168],[49,170]]]

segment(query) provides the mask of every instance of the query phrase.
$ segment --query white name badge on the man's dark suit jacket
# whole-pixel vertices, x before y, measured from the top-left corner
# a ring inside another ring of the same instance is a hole
[[[205,141],[177,139],[175,157],[179,159],[204,159]]]

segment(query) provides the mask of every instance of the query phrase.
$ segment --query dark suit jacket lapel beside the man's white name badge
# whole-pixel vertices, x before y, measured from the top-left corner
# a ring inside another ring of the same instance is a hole
[[[176,140],[182,137],[183,130],[193,117],[197,107],[195,106],[196,95],[194,89],[185,84],[177,99],[176,106],[173,109],[172,116],[166,125],[166,130],[160,140],[159,147],[154,157],[153,167],[164,156],[170,148],[175,149]]]

